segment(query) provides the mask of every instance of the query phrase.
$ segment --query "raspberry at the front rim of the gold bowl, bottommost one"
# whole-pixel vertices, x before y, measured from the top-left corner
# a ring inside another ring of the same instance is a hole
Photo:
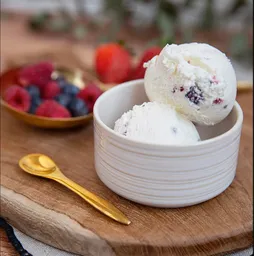
[[[55,100],[45,100],[37,109],[37,116],[52,117],[52,118],[68,118],[71,117],[70,112],[57,103]]]

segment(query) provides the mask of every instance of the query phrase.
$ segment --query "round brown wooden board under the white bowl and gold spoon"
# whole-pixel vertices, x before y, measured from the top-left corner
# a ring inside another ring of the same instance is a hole
[[[157,209],[111,192],[96,175],[93,126],[51,131],[1,115],[1,215],[44,243],[80,255],[215,255],[252,244],[252,95],[240,94],[245,118],[237,175],[218,197],[187,208]],[[51,156],[69,178],[111,201],[132,221],[118,224],[51,180],[24,173],[29,153]]]

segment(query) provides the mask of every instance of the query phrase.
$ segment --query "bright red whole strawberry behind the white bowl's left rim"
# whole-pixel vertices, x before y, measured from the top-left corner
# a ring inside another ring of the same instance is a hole
[[[124,82],[131,72],[130,54],[119,44],[104,44],[96,50],[95,69],[104,83]]]

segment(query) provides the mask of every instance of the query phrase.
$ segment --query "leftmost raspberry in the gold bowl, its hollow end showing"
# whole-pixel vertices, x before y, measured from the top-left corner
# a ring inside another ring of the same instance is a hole
[[[4,94],[4,100],[12,107],[27,112],[31,105],[31,96],[18,85],[10,86]]]

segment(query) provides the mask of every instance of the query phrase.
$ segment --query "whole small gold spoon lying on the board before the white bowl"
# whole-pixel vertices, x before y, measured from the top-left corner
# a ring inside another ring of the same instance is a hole
[[[91,204],[93,207],[108,217],[125,225],[129,225],[131,223],[127,217],[111,203],[94,195],[93,193],[65,177],[55,162],[48,156],[42,154],[30,154],[24,156],[19,160],[19,166],[25,172],[59,182],[60,184],[81,196],[89,204]]]

